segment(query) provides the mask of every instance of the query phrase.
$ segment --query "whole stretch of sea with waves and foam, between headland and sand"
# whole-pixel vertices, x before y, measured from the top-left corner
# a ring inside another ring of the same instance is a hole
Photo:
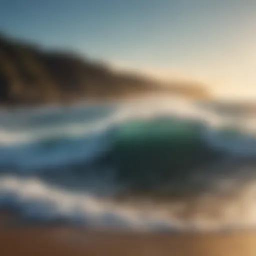
[[[28,223],[251,228],[256,114],[222,110],[162,96],[1,109],[0,208]]]

